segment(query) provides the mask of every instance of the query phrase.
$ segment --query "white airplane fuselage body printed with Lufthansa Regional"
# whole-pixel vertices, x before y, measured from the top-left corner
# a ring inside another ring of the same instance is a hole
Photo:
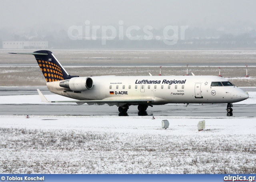
[[[77,100],[152,99],[160,104],[217,104],[234,103],[248,98],[236,86],[211,86],[212,82],[226,82],[219,76],[92,76],[93,87],[82,92],[62,88],[59,83],[47,82],[56,94]]]

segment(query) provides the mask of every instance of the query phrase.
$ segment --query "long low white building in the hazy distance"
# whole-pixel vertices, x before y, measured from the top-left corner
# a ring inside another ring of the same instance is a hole
[[[3,41],[3,49],[47,49],[48,41]]]

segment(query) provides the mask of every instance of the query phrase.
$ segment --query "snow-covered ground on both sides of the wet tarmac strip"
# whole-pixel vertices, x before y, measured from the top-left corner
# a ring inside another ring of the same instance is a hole
[[[249,94],[240,104],[256,104]],[[0,104],[39,103],[0,96]],[[256,117],[0,115],[0,126],[0,173],[256,173]]]

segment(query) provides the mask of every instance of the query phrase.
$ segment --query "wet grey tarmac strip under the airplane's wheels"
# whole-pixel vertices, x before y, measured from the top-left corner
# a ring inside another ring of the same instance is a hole
[[[116,106],[73,105],[73,104],[1,104],[0,115],[90,115],[90,116],[227,116],[224,104],[185,104],[149,107],[146,112],[138,112],[137,106],[130,106],[127,113],[119,114]],[[256,117],[256,104],[237,104],[233,107],[233,117]]]

